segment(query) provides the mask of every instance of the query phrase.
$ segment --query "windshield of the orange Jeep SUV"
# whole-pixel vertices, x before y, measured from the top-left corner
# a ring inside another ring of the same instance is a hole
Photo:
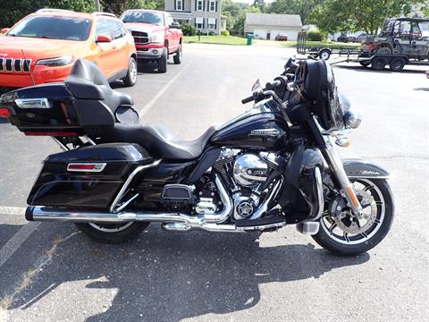
[[[30,16],[9,30],[7,36],[86,40],[91,21],[72,17]]]

